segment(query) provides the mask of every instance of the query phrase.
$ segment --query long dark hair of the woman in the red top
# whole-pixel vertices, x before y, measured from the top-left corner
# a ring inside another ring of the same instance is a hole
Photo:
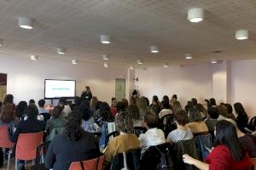
[[[236,134],[236,127],[231,122],[222,120],[216,124],[215,146],[223,144],[230,149],[234,160],[241,161],[246,155]]]

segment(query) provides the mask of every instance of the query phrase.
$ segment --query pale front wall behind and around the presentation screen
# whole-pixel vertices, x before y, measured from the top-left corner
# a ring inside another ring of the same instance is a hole
[[[126,78],[127,70],[96,65],[72,65],[67,61],[16,59],[0,55],[0,72],[8,74],[7,93],[20,100],[44,98],[44,79],[77,80],[78,95],[85,85],[102,101],[115,95],[115,78]]]

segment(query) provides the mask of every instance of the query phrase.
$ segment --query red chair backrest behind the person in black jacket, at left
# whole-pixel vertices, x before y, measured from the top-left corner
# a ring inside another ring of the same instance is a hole
[[[44,132],[20,133],[15,151],[15,159],[32,160],[36,158],[37,148],[43,142]]]

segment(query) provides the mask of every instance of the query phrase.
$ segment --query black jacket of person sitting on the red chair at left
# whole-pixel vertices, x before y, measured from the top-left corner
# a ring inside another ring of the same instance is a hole
[[[38,133],[44,131],[44,122],[38,119],[27,118],[26,121],[21,121],[16,127],[15,133],[11,137],[11,141],[16,143],[20,133]]]

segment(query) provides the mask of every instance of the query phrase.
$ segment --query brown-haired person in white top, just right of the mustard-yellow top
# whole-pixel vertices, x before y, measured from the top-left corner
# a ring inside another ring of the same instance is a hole
[[[143,127],[147,127],[148,131],[139,136],[142,156],[143,153],[148,150],[149,146],[166,143],[165,133],[157,128],[158,116],[154,113],[146,113],[146,116],[143,118]]]

